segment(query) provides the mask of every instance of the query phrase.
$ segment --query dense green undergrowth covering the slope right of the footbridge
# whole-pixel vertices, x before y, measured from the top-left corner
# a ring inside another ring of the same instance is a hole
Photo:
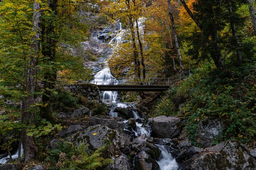
[[[251,64],[244,65],[230,65],[224,70],[212,70],[211,65],[206,64],[201,69],[194,70],[189,79],[173,87],[157,102],[151,115],[184,117],[192,140],[196,140],[194,135],[198,122],[206,118],[222,119],[225,123],[220,140],[254,139],[256,136],[255,60],[252,60]],[[185,101],[177,104],[178,97],[185,98]]]

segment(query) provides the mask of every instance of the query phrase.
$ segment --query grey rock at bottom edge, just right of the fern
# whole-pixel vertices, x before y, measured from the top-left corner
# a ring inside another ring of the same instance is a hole
[[[112,157],[114,163],[108,165],[104,170],[130,170],[130,162],[126,155],[122,154],[117,158]]]

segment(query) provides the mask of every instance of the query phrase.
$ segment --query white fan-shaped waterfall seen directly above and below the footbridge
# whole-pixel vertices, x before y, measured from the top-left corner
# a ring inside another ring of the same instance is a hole
[[[101,71],[99,71],[90,83],[98,84],[98,85],[110,85],[117,84],[118,81],[113,77],[110,73],[110,68],[105,67]],[[103,91],[102,92],[102,100],[110,99],[112,102],[116,102],[117,92],[116,91]]]

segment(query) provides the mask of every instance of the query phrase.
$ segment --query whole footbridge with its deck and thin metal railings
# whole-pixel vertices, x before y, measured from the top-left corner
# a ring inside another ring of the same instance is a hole
[[[94,77],[90,82],[99,87],[100,91],[165,91],[171,85],[181,82],[182,79],[190,76],[190,70],[179,75],[168,78],[115,78],[115,77]]]

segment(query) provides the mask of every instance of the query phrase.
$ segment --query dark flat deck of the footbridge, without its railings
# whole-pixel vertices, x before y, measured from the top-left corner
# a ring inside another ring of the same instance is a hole
[[[97,85],[99,91],[165,91],[170,86],[150,86],[150,85]]]

